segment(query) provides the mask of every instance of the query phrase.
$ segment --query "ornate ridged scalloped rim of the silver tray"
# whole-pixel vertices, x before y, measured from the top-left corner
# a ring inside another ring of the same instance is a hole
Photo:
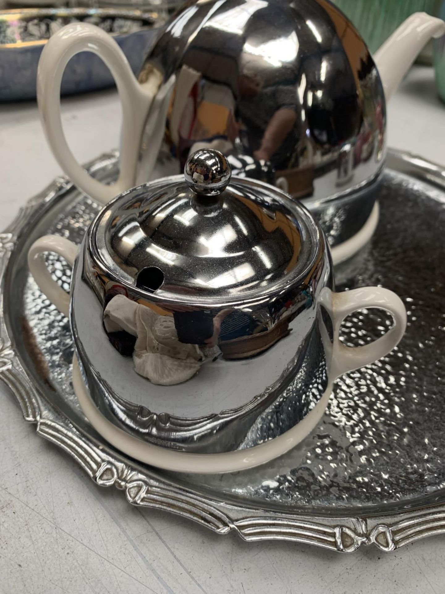
[[[117,153],[107,153],[85,166],[90,173],[103,171],[116,163]],[[441,188],[445,188],[445,170],[420,157],[390,151],[390,168],[409,173]],[[234,501],[223,501],[193,492],[173,481],[167,482],[155,472],[125,459],[107,445],[98,445],[93,438],[82,434],[68,418],[56,410],[38,393],[28,377],[24,365],[14,352],[5,324],[7,304],[4,286],[8,265],[14,258],[14,248],[33,217],[42,216],[54,201],[72,189],[68,178],[56,178],[46,189],[31,198],[18,216],[0,233],[0,380],[17,399],[26,421],[36,424],[37,433],[59,445],[72,456],[88,475],[101,486],[116,486],[125,491],[133,505],[158,508],[187,517],[217,533],[235,530],[245,541],[278,539],[304,542],[340,552],[356,551],[361,545],[374,544],[382,551],[426,536],[445,533],[445,503],[419,505],[409,510],[394,510],[350,517],[326,514],[306,515],[288,511],[268,511],[266,507],[247,508]]]

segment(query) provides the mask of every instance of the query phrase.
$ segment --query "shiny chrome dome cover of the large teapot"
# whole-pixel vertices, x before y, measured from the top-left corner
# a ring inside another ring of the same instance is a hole
[[[186,3],[139,81],[154,70],[164,80],[176,74],[167,140],[182,162],[193,144],[214,142],[268,163],[291,195],[311,201],[379,176],[379,72],[360,34],[326,0]]]

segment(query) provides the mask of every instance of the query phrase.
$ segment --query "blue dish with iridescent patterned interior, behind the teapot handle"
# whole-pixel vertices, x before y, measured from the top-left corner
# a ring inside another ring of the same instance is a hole
[[[37,64],[47,40],[75,21],[93,23],[114,37],[134,72],[165,17],[155,11],[97,8],[27,8],[0,11],[0,100],[36,97]],[[114,86],[103,61],[81,53],[69,62],[62,94],[84,93]]]

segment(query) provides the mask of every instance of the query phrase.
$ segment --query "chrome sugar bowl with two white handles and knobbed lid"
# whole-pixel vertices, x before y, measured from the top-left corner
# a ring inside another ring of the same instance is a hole
[[[49,276],[45,251],[74,264],[71,298]],[[103,418],[139,445],[182,453],[254,451],[280,436],[287,450],[320,419],[333,379],[389,352],[406,324],[389,290],[335,293],[310,212],[270,185],[231,178],[211,149],[189,157],[185,176],[119,195],[80,249],[46,236],[28,263],[69,314]],[[363,307],[386,309],[394,325],[349,349],[339,327]]]

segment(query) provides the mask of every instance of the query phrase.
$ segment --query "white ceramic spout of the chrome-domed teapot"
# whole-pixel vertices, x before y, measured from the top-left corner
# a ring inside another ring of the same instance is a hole
[[[387,101],[431,37],[445,34],[445,21],[415,12],[388,37],[374,55]]]

